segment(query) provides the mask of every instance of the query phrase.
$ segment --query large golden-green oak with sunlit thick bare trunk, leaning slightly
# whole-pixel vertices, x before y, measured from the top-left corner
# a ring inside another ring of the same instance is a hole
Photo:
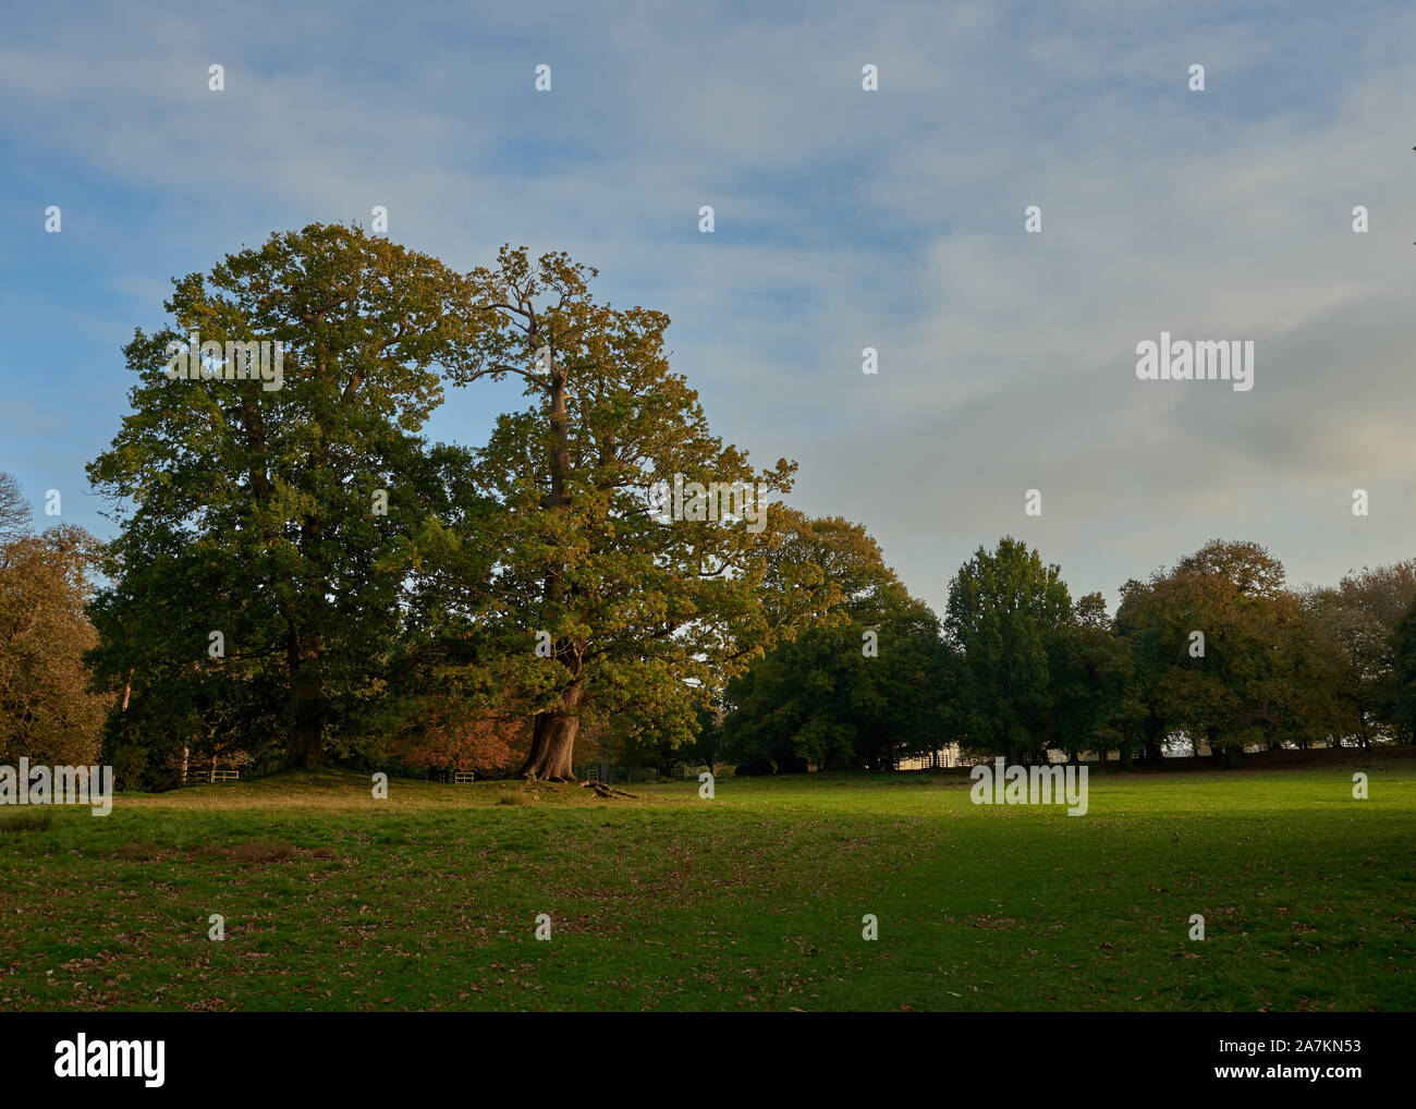
[[[803,586],[810,567],[780,558],[790,530],[766,503],[790,487],[794,465],[755,470],[714,435],[668,367],[668,317],[598,302],[595,276],[564,254],[503,248],[472,273],[479,360],[456,374],[511,375],[528,398],[477,452],[498,558],[470,630],[494,646],[504,684],[525,691],[530,778],[573,778],[586,718],[615,717],[629,739],[654,729],[691,741],[714,690],[830,603],[828,589]],[[651,490],[675,480],[748,486],[753,500],[716,518],[668,518]]]

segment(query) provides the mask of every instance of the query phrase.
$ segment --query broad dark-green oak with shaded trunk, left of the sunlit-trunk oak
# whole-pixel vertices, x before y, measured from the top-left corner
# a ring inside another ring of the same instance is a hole
[[[469,283],[312,224],[174,280],[166,307],[173,323],[125,350],[132,412],[89,466],[119,524],[99,673],[149,715],[193,683],[244,681],[280,700],[286,765],[317,765],[329,725],[378,697],[416,537],[446,496],[418,432],[476,326]],[[169,380],[193,331],[280,343],[283,387]]]

